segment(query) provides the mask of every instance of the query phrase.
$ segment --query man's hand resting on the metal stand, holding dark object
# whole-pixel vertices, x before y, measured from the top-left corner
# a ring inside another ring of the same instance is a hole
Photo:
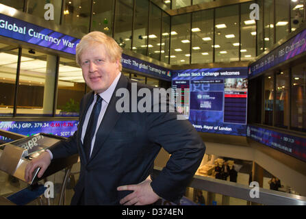
[[[40,167],[40,170],[38,172],[38,177],[42,177],[44,174],[44,171],[47,170],[48,166],[51,164],[51,157],[50,154],[47,151],[44,151],[41,153],[38,157],[34,158],[27,164],[27,167],[25,168],[25,180],[27,182],[31,182],[31,179],[33,177],[33,171]]]

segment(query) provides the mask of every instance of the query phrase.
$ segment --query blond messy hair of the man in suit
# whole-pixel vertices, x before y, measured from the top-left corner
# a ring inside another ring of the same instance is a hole
[[[79,64],[79,66],[81,66],[80,57],[82,51],[88,48],[89,45],[92,45],[94,43],[103,45],[103,47],[105,48],[105,53],[110,62],[116,62],[116,60],[119,60],[119,70],[122,70],[121,54],[123,52],[123,49],[121,49],[121,47],[113,38],[107,36],[106,34],[100,31],[92,31],[89,34],[86,34],[81,38],[79,44],[77,44],[75,55],[77,64]]]

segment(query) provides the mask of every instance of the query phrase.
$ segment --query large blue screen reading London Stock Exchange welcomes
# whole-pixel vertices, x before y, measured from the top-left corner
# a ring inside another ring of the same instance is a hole
[[[172,99],[197,131],[246,136],[247,68],[173,73]]]

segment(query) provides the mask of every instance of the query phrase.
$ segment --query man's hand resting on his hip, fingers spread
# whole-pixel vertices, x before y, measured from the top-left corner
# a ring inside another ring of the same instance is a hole
[[[134,191],[120,200],[121,205],[150,205],[160,198],[151,188],[151,179],[149,177],[136,185],[122,185],[117,190]]]

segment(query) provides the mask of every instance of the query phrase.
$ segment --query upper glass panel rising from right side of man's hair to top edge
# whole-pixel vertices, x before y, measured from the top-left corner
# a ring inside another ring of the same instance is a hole
[[[133,0],[116,1],[114,39],[120,47],[131,49],[131,25],[133,20]]]

